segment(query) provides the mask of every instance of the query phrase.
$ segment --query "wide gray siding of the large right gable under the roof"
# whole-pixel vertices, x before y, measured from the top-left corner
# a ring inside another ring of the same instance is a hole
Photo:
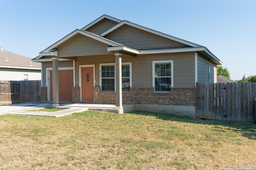
[[[122,26],[122,29],[118,29],[110,35],[106,35],[106,38],[135,49],[189,47],[188,45],[172,41],[129,25],[124,25]]]

